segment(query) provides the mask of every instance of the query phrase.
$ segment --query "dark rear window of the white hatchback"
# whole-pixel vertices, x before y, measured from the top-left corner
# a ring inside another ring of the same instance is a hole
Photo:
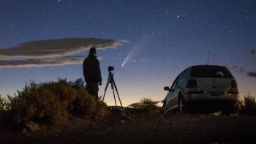
[[[195,66],[192,67],[191,77],[227,77],[233,78],[233,75],[227,67],[221,66]]]

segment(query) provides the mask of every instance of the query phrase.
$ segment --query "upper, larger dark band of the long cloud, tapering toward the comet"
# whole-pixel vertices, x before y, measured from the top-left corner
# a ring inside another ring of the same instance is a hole
[[[32,42],[23,42],[17,47],[1,48],[0,59],[6,60],[10,57],[51,57],[68,56],[91,47],[99,49],[116,48],[122,42],[114,39],[96,38],[67,38],[67,39],[48,39]]]

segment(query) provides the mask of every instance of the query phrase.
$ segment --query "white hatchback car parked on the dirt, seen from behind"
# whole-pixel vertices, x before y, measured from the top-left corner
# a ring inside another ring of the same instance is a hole
[[[185,69],[168,91],[162,109],[189,113],[222,111],[226,115],[237,113],[238,86],[227,67],[198,65]]]

